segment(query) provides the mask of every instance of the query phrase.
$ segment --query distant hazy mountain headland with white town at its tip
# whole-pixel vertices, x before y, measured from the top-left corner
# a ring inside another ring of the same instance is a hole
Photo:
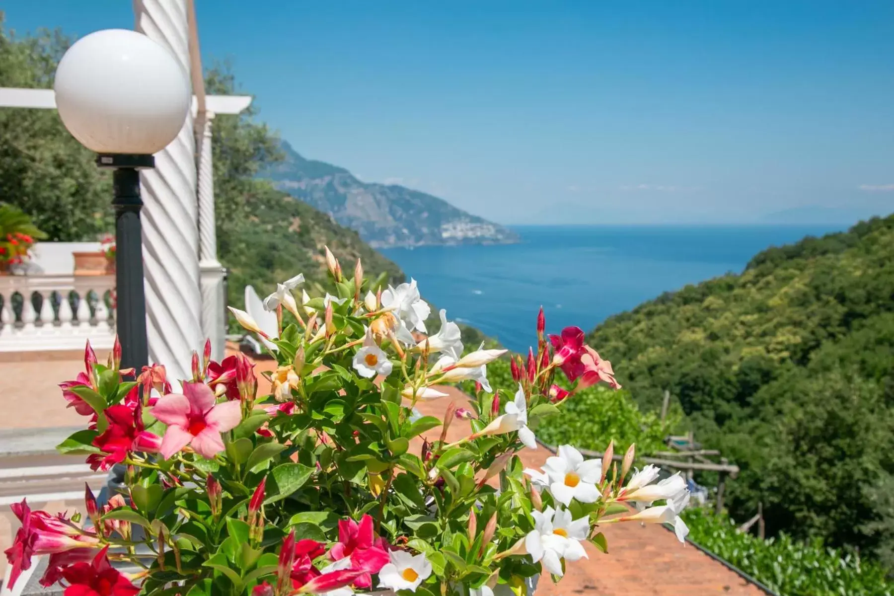
[[[285,160],[262,177],[356,230],[374,248],[507,244],[519,239],[502,225],[441,198],[398,185],[361,182],[344,168],[306,159],[285,141],[282,148]]]

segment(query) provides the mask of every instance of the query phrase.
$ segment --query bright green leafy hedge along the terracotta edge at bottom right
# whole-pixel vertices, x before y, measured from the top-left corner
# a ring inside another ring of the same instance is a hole
[[[738,533],[728,516],[690,508],[683,518],[689,539],[730,562],[780,596],[890,596],[894,584],[872,561],[854,553],[800,542],[786,534],[762,541]]]

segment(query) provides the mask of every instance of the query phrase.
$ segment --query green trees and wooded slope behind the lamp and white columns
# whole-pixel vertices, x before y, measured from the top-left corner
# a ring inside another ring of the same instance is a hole
[[[62,33],[17,37],[0,12],[0,87],[50,88],[59,58],[72,44]],[[240,93],[225,67],[206,73],[207,92]],[[361,257],[367,275],[403,274],[355,231],[342,228],[255,175],[281,158],[279,140],[253,109],[214,121],[218,256],[229,271],[229,303],[242,305],[253,285],[262,295],[302,272],[325,275],[324,245],[352,269]],[[0,109],[0,201],[19,206],[55,241],[94,240],[112,230],[112,185],[95,156],[73,139],[55,110]]]

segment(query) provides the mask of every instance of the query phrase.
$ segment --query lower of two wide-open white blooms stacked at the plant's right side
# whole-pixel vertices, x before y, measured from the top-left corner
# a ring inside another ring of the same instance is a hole
[[[590,529],[588,517],[572,520],[567,509],[553,510],[551,507],[543,512],[532,511],[531,515],[534,516],[534,530],[525,537],[525,547],[535,563],[543,561],[547,571],[561,576],[562,558],[569,561],[587,558],[580,541],[586,540]]]

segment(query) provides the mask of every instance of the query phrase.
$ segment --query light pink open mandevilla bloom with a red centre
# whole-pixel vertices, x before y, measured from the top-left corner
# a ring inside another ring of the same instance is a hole
[[[215,404],[215,394],[205,383],[185,382],[183,393],[168,393],[152,408],[152,416],[167,424],[161,454],[167,459],[187,445],[202,457],[223,451],[221,432],[241,421],[238,401]]]

